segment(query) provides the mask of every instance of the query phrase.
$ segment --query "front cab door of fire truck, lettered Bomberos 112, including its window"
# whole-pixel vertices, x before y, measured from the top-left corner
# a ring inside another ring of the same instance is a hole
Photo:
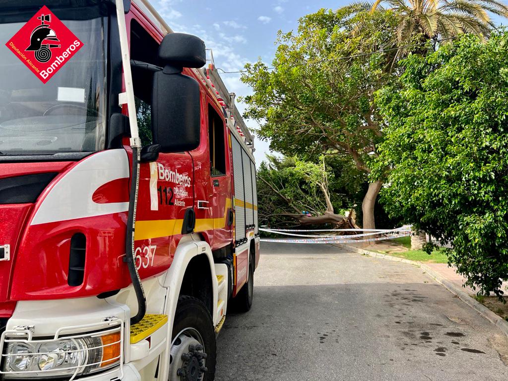
[[[158,41],[141,21],[130,20],[131,57],[156,65]],[[153,73],[132,68],[138,128],[143,147],[153,144]],[[130,151],[130,147],[126,147]],[[131,151],[132,152],[132,151]],[[143,151],[142,151],[143,152]],[[185,212],[194,207],[193,160],[188,152],[160,153],[142,162],[136,211],[135,260],[142,278],[169,268],[182,236]]]

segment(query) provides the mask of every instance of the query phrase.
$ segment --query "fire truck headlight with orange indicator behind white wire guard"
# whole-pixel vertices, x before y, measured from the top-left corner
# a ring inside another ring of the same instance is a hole
[[[9,342],[3,372],[7,378],[53,379],[85,375],[120,363],[120,333],[72,339]]]

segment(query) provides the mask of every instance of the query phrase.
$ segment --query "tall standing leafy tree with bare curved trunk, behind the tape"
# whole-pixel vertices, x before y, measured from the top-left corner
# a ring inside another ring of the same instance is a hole
[[[246,65],[242,80],[246,117],[271,148],[317,162],[327,155],[348,157],[370,173],[382,138],[373,94],[396,80],[392,36],[395,13],[320,10],[300,19],[298,33],[279,32],[274,70],[261,60]],[[374,54],[372,54],[374,53]],[[382,181],[369,184],[362,203],[363,227],[374,228],[374,204]]]

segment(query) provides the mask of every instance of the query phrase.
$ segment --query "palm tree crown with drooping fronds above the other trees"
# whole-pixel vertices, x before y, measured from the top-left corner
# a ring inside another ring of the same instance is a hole
[[[386,5],[386,7],[384,6]],[[494,23],[489,14],[508,18],[508,6],[498,0],[375,0],[345,7],[351,14],[362,11],[395,11],[400,22],[397,40],[449,40],[464,33],[488,38]]]

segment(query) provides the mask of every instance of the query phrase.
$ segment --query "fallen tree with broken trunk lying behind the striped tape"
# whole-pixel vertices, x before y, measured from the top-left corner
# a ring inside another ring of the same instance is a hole
[[[355,212],[335,213],[351,207],[362,175],[336,157],[322,155],[320,163],[297,157],[269,156],[258,172],[260,222],[271,228],[331,225],[335,229],[358,228]],[[333,166],[329,165],[333,162]],[[345,165],[344,165],[345,164]]]

